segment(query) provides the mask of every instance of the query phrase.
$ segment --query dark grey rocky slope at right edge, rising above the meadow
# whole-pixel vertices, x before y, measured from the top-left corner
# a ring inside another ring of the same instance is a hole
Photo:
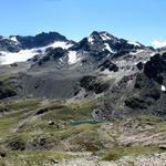
[[[165,116],[166,62],[159,54],[151,58],[144,69],[123,77],[104,97],[104,113],[108,120],[136,115]],[[163,85],[162,85],[163,84]],[[106,112],[106,113],[105,113]]]

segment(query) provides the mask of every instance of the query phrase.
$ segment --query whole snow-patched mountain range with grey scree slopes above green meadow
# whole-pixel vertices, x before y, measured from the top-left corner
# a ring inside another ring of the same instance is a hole
[[[101,98],[104,110],[93,114],[100,120],[164,114],[165,50],[94,31],[80,42],[56,32],[1,37],[0,53],[0,74],[15,75],[17,97]]]

